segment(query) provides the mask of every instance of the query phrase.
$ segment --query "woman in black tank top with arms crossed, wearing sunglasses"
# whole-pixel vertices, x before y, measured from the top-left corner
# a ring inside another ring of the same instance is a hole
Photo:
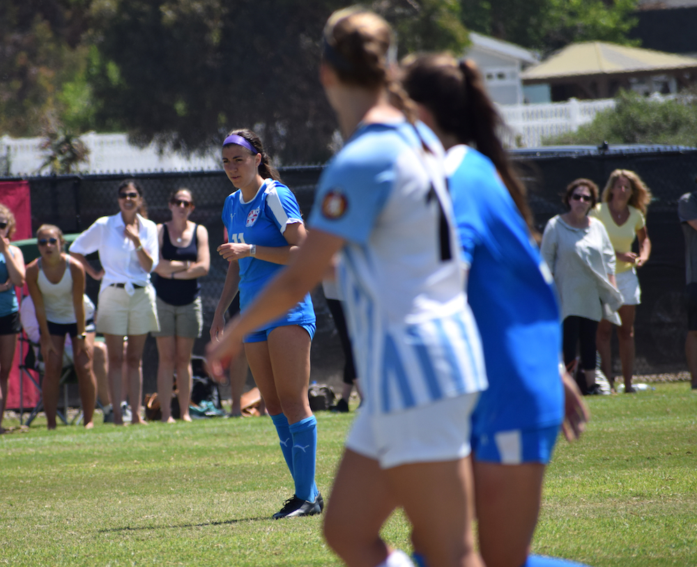
[[[181,419],[191,421],[191,352],[204,327],[201,308],[201,284],[198,278],[208,274],[210,252],[205,226],[189,220],[194,197],[189,189],[177,189],[169,196],[171,221],[158,224],[160,261],[155,268],[153,286],[158,294],[160,331],[158,341],[158,398],[162,421],[173,424],[172,379],[176,371]]]

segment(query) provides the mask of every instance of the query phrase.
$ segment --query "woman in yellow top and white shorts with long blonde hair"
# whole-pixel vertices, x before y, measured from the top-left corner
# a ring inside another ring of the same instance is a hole
[[[615,249],[617,267],[615,278],[622,293],[622,306],[618,310],[622,325],[617,334],[620,343],[622,376],[625,392],[634,392],[631,378],[634,374],[634,315],[641,303],[641,288],[636,277],[636,268],[643,266],[651,254],[651,241],[646,232],[646,209],[651,201],[651,192],[641,178],[627,169],[615,169],[610,174],[601,203],[592,214],[598,217],[610,236]],[[631,251],[631,244],[638,239],[639,254]],[[603,319],[598,325],[597,347],[600,352],[601,369],[614,389],[610,339],[613,324]]]

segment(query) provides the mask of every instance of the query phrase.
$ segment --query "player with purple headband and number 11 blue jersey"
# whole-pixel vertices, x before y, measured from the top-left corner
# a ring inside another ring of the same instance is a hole
[[[223,339],[224,313],[238,289],[245,311],[306,236],[298,202],[280,182],[254,132],[230,132],[223,142],[222,163],[238,190],[227,197],[222,211],[229,242],[217,251],[230,265],[210,327],[213,342]],[[248,329],[243,339],[295,483],[295,494],[274,514],[276,519],[319,514],[324,506],[314,482],[317,421],[307,399],[314,332],[312,300],[305,293],[275,320]]]

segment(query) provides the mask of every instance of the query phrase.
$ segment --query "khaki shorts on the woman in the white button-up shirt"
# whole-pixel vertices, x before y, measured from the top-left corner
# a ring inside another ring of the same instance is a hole
[[[130,336],[158,331],[155,311],[155,289],[149,285],[128,295],[124,288],[107,286],[99,294],[97,331],[104,334]]]

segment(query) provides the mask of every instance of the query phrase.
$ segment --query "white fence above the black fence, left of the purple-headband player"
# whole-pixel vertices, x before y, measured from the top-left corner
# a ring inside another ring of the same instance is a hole
[[[157,148],[137,148],[128,143],[126,134],[95,134],[80,137],[89,148],[89,160],[79,165],[80,171],[89,173],[139,173],[146,171],[210,171],[221,169],[220,161],[213,157],[165,152]],[[10,176],[36,175],[45,160],[46,153],[39,149],[40,138],[0,138],[0,157],[8,157]],[[48,173],[47,171],[44,172]]]

